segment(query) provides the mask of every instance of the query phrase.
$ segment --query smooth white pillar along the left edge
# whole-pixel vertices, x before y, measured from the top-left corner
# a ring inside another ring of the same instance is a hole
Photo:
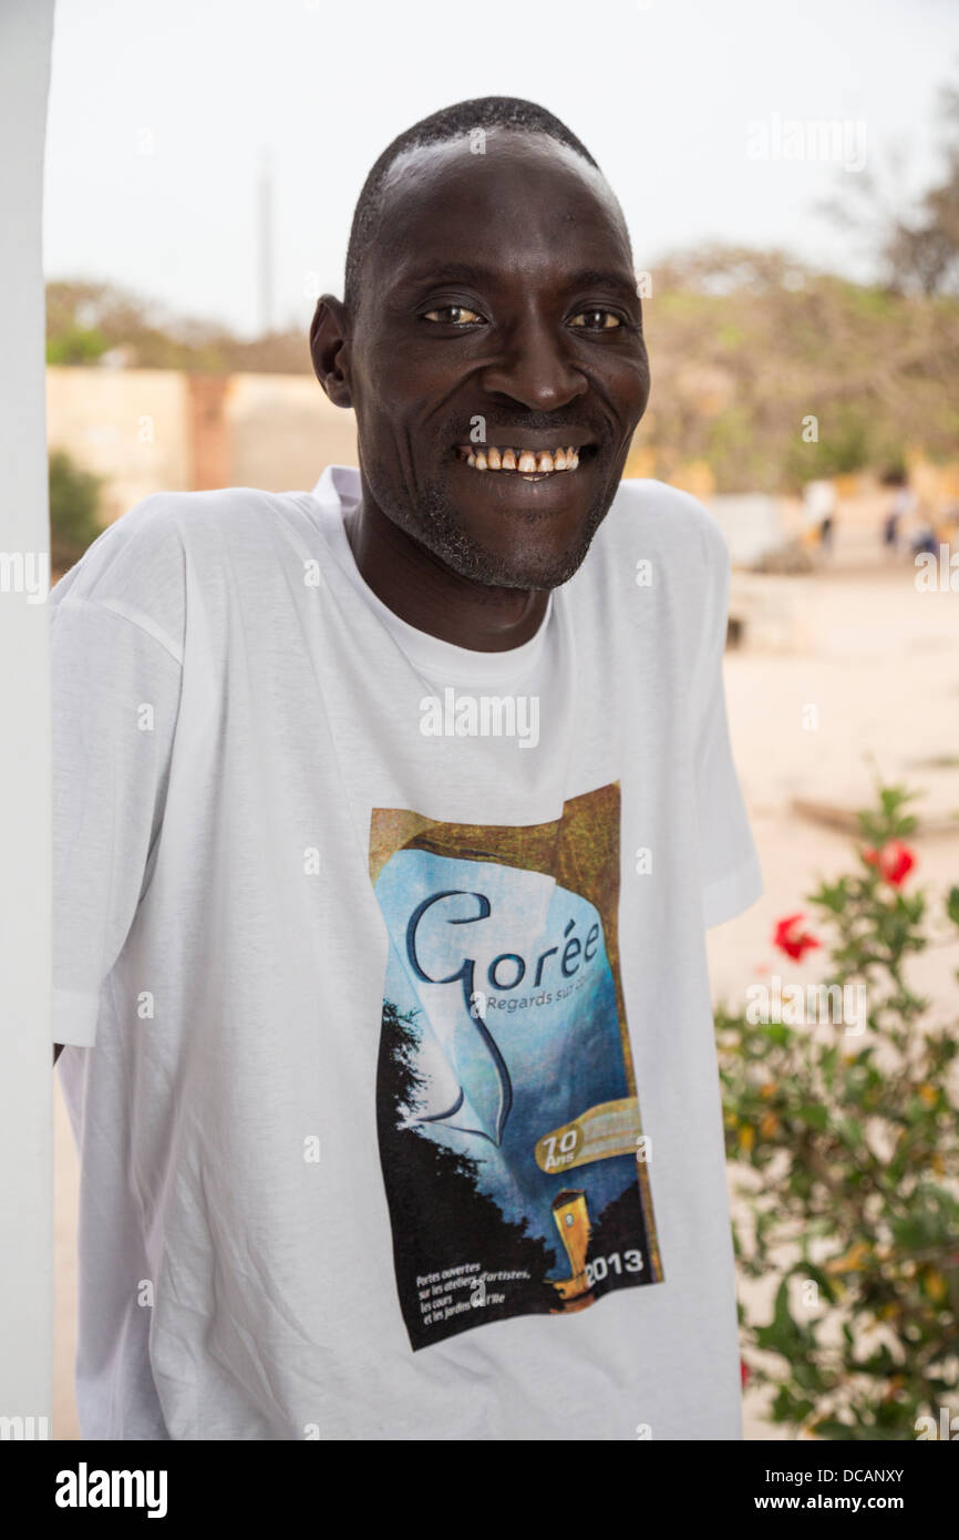
[[[0,5],[0,1417],[34,1418],[34,1437],[35,1420],[51,1414],[52,1364],[42,265],[52,28],[54,0]],[[0,1437],[11,1437],[11,1426],[0,1424]],[[29,1437],[29,1421],[26,1432]]]

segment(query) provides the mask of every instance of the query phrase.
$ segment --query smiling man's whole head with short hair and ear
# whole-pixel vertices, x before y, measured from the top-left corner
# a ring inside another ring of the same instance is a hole
[[[311,353],[329,399],[356,410],[365,500],[462,578],[573,576],[650,371],[622,211],[553,114],[482,97],[394,140]]]

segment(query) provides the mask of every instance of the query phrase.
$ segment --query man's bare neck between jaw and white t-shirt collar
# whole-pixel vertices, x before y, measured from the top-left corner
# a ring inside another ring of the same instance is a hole
[[[363,500],[345,525],[363,582],[417,631],[477,653],[505,653],[536,636],[548,591],[460,578]]]

